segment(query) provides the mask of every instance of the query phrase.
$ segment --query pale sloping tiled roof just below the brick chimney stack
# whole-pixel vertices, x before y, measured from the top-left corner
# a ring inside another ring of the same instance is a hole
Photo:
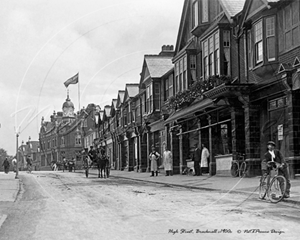
[[[173,68],[169,56],[145,55],[145,61],[152,78],[160,78]]]

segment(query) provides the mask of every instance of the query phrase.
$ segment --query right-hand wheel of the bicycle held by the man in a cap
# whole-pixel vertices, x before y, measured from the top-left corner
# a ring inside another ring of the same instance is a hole
[[[286,191],[286,179],[283,176],[275,176],[268,190],[268,196],[272,203],[280,202]]]

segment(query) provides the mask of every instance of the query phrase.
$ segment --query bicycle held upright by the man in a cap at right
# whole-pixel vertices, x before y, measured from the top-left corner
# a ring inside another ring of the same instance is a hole
[[[259,198],[263,200],[267,196],[272,203],[278,203],[284,198],[287,187],[285,177],[278,175],[282,165],[269,161],[267,167],[267,173],[260,179]]]

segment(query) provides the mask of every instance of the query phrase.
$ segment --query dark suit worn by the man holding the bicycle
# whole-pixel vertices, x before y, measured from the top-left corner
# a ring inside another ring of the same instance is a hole
[[[278,175],[283,175],[286,179],[286,193],[290,193],[290,188],[291,188],[291,182],[290,182],[290,176],[288,172],[288,164],[284,160],[284,157],[282,156],[281,152],[278,149],[274,149],[274,162],[283,164],[283,167],[279,169]],[[272,155],[269,151],[265,153],[265,159],[262,160],[261,163],[261,169],[262,171],[267,170],[267,162],[272,161]]]

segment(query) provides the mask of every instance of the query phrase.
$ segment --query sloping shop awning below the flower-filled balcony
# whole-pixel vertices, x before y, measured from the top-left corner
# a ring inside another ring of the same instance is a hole
[[[201,111],[207,107],[215,106],[213,100],[205,98],[197,103],[192,104],[191,106],[178,110],[173,115],[171,115],[166,121],[165,124],[173,122],[180,118],[188,118],[193,115],[195,112]]]

